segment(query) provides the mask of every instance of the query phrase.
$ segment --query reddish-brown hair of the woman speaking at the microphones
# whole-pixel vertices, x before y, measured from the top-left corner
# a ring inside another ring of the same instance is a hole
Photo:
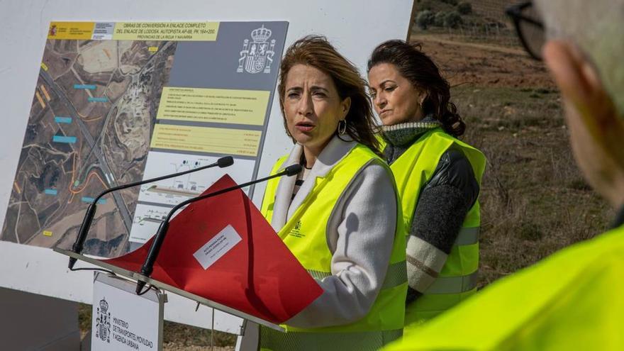
[[[366,80],[360,76],[355,65],[340,55],[321,35],[308,35],[297,40],[286,49],[284,58],[282,58],[277,91],[279,91],[279,107],[282,108],[286,133],[288,133],[286,113],[284,113],[286,77],[294,65],[300,64],[315,67],[325,72],[333,80],[340,99],[351,98],[351,106],[345,117],[345,121],[347,121],[345,133],[352,140],[366,145],[380,155],[379,140],[374,136],[376,133],[375,119],[370,98],[366,93]],[[338,137],[340,138],[340,135]]]

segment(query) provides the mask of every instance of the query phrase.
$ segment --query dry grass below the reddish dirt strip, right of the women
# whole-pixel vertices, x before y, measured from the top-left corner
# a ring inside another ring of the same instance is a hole
[[[613,211],[574,164],[559,94],[456,87],[464,140],[488,165],[481,189],[480,286],[607,228]]]

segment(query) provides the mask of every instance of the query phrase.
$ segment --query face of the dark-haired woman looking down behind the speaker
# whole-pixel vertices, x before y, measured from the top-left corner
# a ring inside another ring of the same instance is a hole
[[[425,93],[403,77],[395,65],[380,63],[368,72],[373,107],[385,126],[423,119]]]

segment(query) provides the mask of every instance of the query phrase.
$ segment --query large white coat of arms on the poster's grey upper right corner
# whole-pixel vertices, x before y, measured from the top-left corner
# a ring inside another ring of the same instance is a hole
[[[240,58],[238,59],[238,69],[236,72],[245,72],[256,74],[260,72],[271,73],[271,64],[273,62],[273,55],[275,55],[275,39],[271,38],[271,30],[269,28],[262,27],[252,30],[250,43],[249,39],[243,41],[243,50],[240,51]]]

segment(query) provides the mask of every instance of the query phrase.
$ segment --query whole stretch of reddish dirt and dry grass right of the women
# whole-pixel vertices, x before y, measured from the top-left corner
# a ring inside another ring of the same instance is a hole
[[[449,80],[462,136],[488,160],[479,286],[592,238],[614,216],[574,163],[557,87],[523,48],[412,35]]]

